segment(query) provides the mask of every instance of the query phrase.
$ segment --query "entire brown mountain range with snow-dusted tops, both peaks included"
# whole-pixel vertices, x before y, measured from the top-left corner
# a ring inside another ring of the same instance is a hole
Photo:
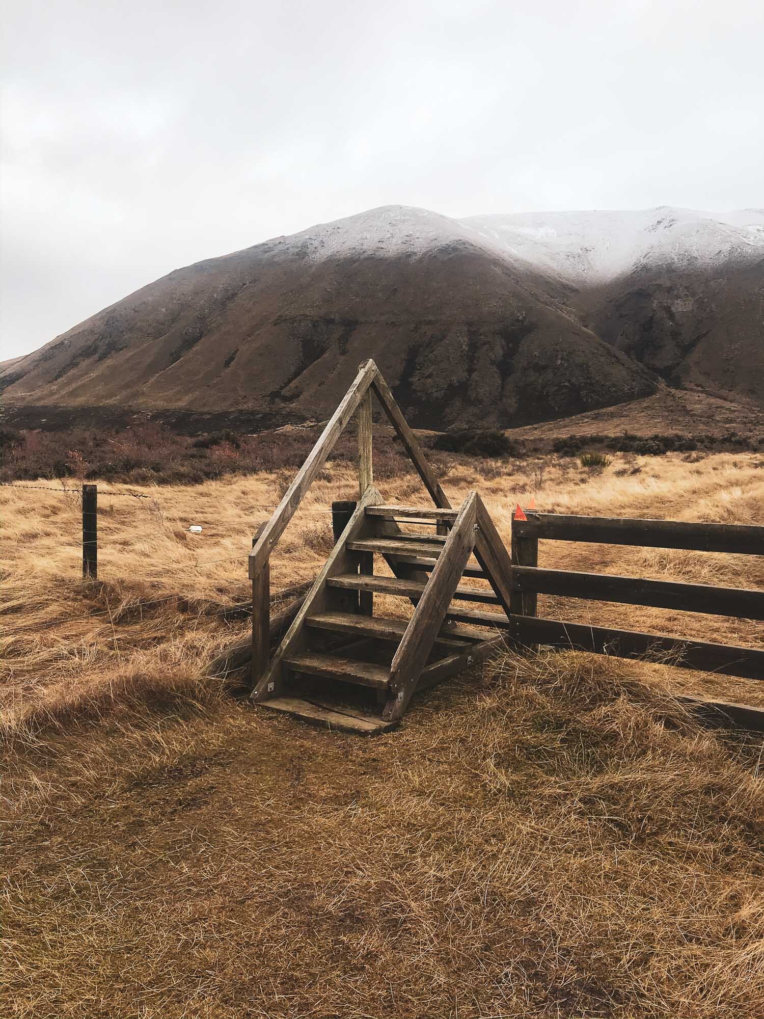
[[[322,418],[372,357],[422,427],[523,425],[661,380],[764,401],[764,213],[389,206],[197,263],[0,369],[13,404]]]

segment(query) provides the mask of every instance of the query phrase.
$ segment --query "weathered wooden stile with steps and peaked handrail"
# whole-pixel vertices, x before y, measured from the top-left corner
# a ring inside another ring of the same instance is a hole
[[[434,507],[385,504],[374,487],[375,395]],[[271,657],[270,553],[356,411],[360,500]],[[426,525],[434,527],[435,533]],[[413,526],[418,530],[413,531]],[[387,562],[392,577],[375,574],[375,556]],[[465,577],[487,585],[465,585]],[[392,728],[416,691],[484,659],[501,646],[501,631],[509,624],[509,553],[480,495],[471,492],[458,509],[451,506],[373,361],[361,365],[294,481],[261,529],[250,554],[250,578],[252,699],[340,730],[377,733]],[[413,606],[410,619],[374,614],[374,592],[403,598]],[[465,601],[494,609],[454,604]],[[352,703],[353,688],[361,695],[361,705]]]

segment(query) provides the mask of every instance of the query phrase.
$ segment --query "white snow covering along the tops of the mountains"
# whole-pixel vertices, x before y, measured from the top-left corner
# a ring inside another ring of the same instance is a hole
[[[764,210],[696,212],[661,206],[634,212],[538,212],[451,219],[427,209],[382,206],[319,223],[277,244],[311,262],[345,257],[416,258],[458,244],[525,263],[575,285],[643,269],[711,268],[764,257]]]

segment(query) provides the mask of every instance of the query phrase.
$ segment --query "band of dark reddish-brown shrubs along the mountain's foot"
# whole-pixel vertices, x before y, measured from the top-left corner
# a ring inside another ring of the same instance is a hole
[[[0,428],[0,484],[36,479],[119,482],[134,485],[196,485],[234,474],[295,471],[310,452],[320,426],[286,426],[248,435],[231,428],[187,434],[159,421],[126,427]],[[440,458],[442,470],[455,461],[533,461],[550,452],[560,457],[621,452],[661,455],[668,452],[752,452],[764,450],[764,433],[734,431],[649,436],[581,434],[566,437],[512,438],[493,429],[430,433],[423,444]],[[408,459],[390,429],[378,429],[377,476],[391,479],[408,469]],[[448,454],[450,460],[443,459]],[[332,461],[354,463],[356,440],[343,436]]]

